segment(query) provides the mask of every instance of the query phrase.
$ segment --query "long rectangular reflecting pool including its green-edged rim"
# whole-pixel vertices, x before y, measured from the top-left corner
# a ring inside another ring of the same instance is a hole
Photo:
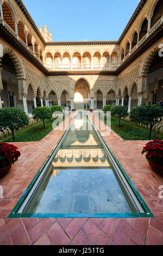
[[[23,195],[16,211],[11,212],[12,217],[15,213],[21,217],[153,217],[129,178],[117,170],[102,138],[90,127],[87,113],[78,113],[51,164],[32,190],[24,193],[26,197]]]

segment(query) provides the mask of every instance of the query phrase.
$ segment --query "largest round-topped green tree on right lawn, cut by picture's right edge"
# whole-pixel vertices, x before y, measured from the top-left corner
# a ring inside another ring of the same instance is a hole
[[[151,139],[152,128],[162,120],[163,108],[158,105],[140,105],[131,109],[130,120],[136,124],[149,125],[149,139]]]

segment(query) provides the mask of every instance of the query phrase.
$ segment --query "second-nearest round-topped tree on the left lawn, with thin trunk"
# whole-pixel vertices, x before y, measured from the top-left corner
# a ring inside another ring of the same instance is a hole
[[[52,111],[48,107],[36,107],[33,109],[33,119],[39,120],[41,119],[43,122],[43,129],[45,129],[45,119],[52,118]]]

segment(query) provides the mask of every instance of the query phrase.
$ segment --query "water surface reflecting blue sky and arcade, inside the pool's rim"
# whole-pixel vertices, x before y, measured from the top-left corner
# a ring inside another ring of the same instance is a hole
[[[135,212],[97,133],[82,130],[87,115],[79,118],[24,212]]]

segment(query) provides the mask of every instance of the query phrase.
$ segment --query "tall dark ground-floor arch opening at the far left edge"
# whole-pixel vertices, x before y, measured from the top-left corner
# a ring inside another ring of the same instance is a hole
[[[1,92],[2,107],[20,107],[23,109],[23,103],[18,93],[17,72],[8,54],[3,55],[1,68],[3,84]]]

